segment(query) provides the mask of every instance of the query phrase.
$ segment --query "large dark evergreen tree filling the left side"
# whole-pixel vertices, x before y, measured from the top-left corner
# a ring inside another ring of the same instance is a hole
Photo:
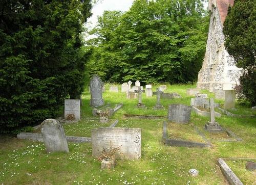
[[[52,118],[79,96],[90,10],[90,0],[0,2],[0,133]]]

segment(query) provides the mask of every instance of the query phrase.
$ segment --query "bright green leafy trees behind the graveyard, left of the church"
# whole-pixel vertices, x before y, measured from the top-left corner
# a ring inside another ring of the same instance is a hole
[[[90,74],[103,80],[187,83],[197,78],[208,17],[200,0],[136,0],[126,13],[105,11],[87,42]]]

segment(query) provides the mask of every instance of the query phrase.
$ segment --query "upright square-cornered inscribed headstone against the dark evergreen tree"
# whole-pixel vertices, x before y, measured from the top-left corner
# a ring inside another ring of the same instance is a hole
[[[64,117],[67,120],[80,120],[80,99],[65,99]]]

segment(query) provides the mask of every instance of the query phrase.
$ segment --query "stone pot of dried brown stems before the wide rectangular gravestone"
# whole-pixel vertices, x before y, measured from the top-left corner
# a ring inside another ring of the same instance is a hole
[[[101,169],[114,168],[116,166],[116,157],[121,154],[120,150],[121,146],[113,147],[113,143],[110,141],[110,148],[103,148],[98,156],[98,160],[101,161]]]

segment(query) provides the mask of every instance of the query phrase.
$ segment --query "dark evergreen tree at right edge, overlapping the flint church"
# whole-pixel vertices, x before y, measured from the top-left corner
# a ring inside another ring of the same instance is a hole
[[[247,99],[256,104],[256,4],[254,0],[235,0],[229,7],[223,32],[228,53],[244,69],[240,84]]]

